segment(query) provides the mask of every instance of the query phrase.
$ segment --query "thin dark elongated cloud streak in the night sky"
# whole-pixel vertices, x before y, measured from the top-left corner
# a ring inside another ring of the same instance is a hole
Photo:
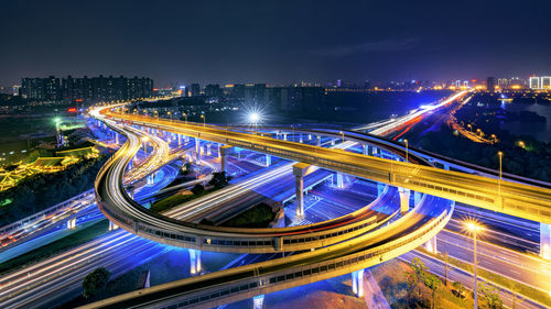
[[[314,49],[310,53],[317,56],[349,56],[364,53],[376,52],[399,52],[413,48],[418,43],[418,38],[402,38],[402,40],[385,40],[375,42],[364,42],[360,44],[334,46],[328,48]]]

